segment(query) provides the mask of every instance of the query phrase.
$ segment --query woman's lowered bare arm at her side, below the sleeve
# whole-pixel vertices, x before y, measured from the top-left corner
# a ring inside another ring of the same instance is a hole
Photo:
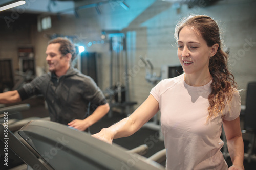
[[[223,127],[227,138],[227,146],[233,165],[231,169],[244,169],[244,142],[240,128],[239,117],[232,120],[223,120]]]

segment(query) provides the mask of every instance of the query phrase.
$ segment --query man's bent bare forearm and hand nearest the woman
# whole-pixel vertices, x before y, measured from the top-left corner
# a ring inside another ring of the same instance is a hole
[[[68,123],[69,126],[76,128],[78,130],[84,131],[89,126],[93,125],[94,123],[98,122],[106,113],[110,110],[110,106],[108,103],[104,105],[100,105],[96,108],[96,110],[87,118],[83,120],[75,119],[72,122]]]

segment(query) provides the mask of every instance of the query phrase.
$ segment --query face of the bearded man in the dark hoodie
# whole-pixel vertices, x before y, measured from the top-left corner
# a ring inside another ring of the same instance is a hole
[[[46,48],[46,61],[49,66],[49,71],[58,72],[67,68],[69,60],[67,56],[62,55],[59,51],[60,44],[49,44]]]

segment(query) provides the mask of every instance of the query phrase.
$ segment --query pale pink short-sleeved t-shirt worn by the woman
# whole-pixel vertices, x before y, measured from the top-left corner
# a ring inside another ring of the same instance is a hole
[[[151,90],[161,112],[166,169],[228,169],[220,151],[222,119],[230,121],[239,116],[241,99],[236,90],[231,108],[225,107],[223,117],[219,115],[207,123],[210,84],[189,86],[182,74],[162,80]]]

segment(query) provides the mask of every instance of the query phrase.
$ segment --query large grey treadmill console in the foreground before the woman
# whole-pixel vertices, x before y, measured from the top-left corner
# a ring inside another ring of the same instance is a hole
[[[4,132],[8,133],[7,136]],[[0,124],[0,140],[4,147],[8,145],[8,152],[13,152],[30,169],[35,170],[165,169],[157,162],[127,152],[115,143],[111,145],[56,122],[32,120],[15,135]],[[1,149],[1,155],[6,154],[3,151]]]

